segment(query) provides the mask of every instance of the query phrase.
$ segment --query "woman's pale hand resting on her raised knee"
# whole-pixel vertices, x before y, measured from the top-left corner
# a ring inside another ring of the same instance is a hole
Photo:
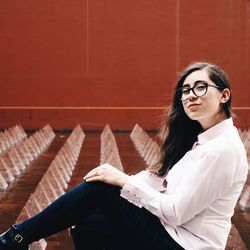
[[[87,182],[101,181],[111,185],[123,187],[128,177],[129,176],[127,174],[110,164],[105,163],[92,169],[83,177],[83,179]]]

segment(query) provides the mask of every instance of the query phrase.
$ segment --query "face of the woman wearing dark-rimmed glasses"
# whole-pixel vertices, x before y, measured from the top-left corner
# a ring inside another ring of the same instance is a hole
[[[197,70],[187,76],[182,88],[192,88],[197,82],[206,82],[208,85],[216,86],[210,80],[206,70]],[[190,91],[186,95],[187,100],[182,101],[187,116],[198,121],[204,130],[226,119],[225,113],[221,110],[221,104],[229,99],[230,91],[228,89],[219,91],[213,86],[208,86],[206,94],[200,97]]]

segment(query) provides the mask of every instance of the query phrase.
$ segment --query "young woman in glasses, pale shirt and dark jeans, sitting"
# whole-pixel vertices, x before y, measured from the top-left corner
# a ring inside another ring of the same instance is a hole
[[[224,249],[247,177],[233,125],[230,85],[216,65],[180,75],[165,124],[161,160],[128,176],[104,164],[36,216],[0,236],[1,250],[77,225],[77,249]]]

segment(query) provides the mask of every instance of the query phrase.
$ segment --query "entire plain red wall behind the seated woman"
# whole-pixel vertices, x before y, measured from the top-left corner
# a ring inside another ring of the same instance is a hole
[[[250,1],[0,3],[0,128],[158,128],[187,64],[222,66],[250,126]]]

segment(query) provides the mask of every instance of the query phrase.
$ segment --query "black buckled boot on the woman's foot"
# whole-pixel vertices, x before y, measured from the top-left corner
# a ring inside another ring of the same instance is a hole
[[[29,245],[15,226],[0,235],[0,250],[28,250]]]

